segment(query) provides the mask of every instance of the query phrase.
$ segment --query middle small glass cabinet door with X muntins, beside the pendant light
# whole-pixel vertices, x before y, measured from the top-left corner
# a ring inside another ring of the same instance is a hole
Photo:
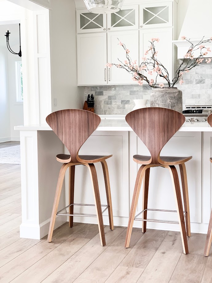
[[[138,29],[138,5],[123,6],[117,13],[107,15],[108,30]]]

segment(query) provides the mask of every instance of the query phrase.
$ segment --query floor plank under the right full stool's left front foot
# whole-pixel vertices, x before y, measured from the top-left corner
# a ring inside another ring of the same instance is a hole
[[[74,281],[74,283],[103,283],[116,269],[124,257],[130,252],[132,247],[143,236],[141,229],[132,230],[130,248],[124,248],[127,229],[117,237],[91,265]]]

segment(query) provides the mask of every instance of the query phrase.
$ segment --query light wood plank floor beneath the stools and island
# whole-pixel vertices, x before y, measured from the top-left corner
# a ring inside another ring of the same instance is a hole
[[[203,256],[206,235],[192,234],[183,254],[179,232],[134,228],[124,248],[126,228],[68,223],[53,241],[19,237],[20,165],[0,164],[0,283],[212,283],[212,254]]]

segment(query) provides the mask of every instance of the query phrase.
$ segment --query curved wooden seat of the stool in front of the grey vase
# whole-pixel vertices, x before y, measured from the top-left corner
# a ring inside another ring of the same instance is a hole
[[[179,157],[179,156],[160,156],[160,163],[164,161],[165,165],[178,165],[185,163],[186,161],[190,160],[192,156],[189,157]],[[146,155],[134,155],[133,160],[138,163],[138,164],[149,164],[151,159],[151,156],[146,156]],[[161,162],[162,161],[162,162]],[[211,160],[212,162],[212,160]]]

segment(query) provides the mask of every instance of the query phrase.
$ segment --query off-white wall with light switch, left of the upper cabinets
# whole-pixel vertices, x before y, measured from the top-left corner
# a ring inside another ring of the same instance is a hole
[[[52,111],[83,107],[77,87],[76,9],[74,0],[53,0],[50,12]],[[53,106],[57,98],[57,107]]]

